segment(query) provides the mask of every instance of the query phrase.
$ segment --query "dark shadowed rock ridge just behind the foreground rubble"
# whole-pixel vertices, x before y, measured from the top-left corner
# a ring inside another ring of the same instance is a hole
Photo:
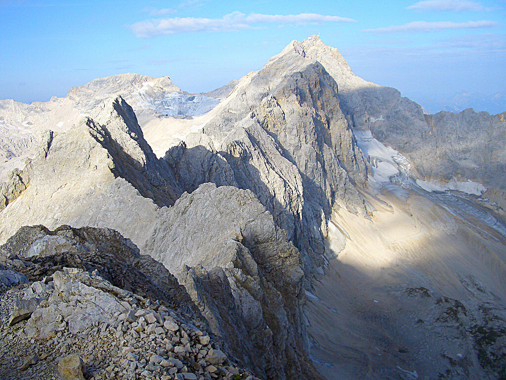
[[[63,225],[50,231],[41,225],[23,226],[0,249],[3,256],[33,263],[20,269],[29,281],[42,281],[64,267],[97,270],[118,288],[191,310],[191,300],[176,278],[114,230]]]

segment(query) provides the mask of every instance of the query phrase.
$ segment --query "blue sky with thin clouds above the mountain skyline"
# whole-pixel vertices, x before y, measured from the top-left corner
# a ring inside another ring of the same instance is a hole
[[[0,99],[45,101],[123,72],[209,91],[315,33],[413,100],[506,92],[504,0],[0,0]]]

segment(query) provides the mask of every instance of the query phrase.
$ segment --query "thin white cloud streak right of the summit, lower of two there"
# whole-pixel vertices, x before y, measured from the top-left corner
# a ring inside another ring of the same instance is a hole
[[[391,25],[384,28],[365,29],[364,31],[374,33],[412,33],[412,32],[426,32],[431,30],[441,29],[477,29],[477,28],[490,28],[497,26],[495,21],[468,21],[468,22],[453,22],[453,21],[414,21],[404,25]]]

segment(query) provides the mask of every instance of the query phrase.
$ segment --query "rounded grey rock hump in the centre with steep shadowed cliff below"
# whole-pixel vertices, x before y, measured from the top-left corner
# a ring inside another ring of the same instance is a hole
[[[300,324],[301,255],[255,195],[205,183],[161,215],[146,250],[183,269],[175,275],[227,348],[269,378],[317,376]]]

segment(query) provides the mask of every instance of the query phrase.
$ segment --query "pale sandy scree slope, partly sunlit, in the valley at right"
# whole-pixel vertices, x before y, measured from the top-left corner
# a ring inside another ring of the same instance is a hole
[[[369,197],[378,210],[370,220],[334,211],[328,266],[305,307],[311,354],[328,379],[437,378],[446,370],[456,377],[441,378],[491,378],[480,369],[473,326],[490,327],[480,305],[503,316],[506,239],[400,192],[383,189],[388,205]]]

